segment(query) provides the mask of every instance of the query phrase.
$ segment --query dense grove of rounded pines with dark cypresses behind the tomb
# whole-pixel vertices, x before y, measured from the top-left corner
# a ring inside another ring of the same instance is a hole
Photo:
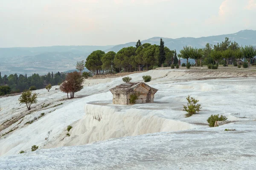
[[[136,47],[125,47],[115,53],[93,51],[86,59],[85,67],[94,74],[149,70],[153,67],[177,64],[177,53],[170,50],[160,39],[160,45],[142,44],[138,40]]]

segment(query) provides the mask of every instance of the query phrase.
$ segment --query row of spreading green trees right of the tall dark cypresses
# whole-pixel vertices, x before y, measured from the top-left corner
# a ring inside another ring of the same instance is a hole
[[[237,42],[231,42],[225,38],[224,42],[212,45],[207,43],[205,48],[183,47],[180,50],[180,57],[195,60],[195,65],[208,65],[223,63],[224,66],[237,63],[241,64],[242,59],[250,65],[250,59],[256,56],[256,49],[252,45],[239,46]]]

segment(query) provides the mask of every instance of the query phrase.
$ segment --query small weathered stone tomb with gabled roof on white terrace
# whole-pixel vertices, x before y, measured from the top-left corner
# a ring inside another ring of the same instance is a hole
[[[154,94],[158,91],[144,82],[125,82],[110,89],[113,94],[113,104],[129,105],[131,94],[137,94],[136,103],[153,103]]]

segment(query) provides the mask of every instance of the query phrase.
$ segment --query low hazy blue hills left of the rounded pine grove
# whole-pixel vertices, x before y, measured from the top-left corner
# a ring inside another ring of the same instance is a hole
[[[4,74],[47,74],[76,69],[76,62],[107,46],[52,46],[0,48],[0,71]]]

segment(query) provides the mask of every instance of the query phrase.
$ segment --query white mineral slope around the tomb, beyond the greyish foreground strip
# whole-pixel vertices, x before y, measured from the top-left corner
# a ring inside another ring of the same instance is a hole
[[[36,107],[40,108],[43,102],[49,101],[53,101],[52,105],[60,102],[63,105],[46,108],[46,115],[30,125],[24,124],[43,111],[34,111],[20,120],[19,125],[16,123],[16,130],[0,138],[0,156],[17,154],[20,150],[29,152],[34,144],[42,149],[144,133],[207,128],[207,118],[211,114],[223,114],[229,120],[256,119],[252,105],[256,98],[256,94],[252,93],[256,90],[255,78],[191,80],[215,78],[220,73],[191,73],[184,70],[154,70],[131,74],[130,77],[133,81],[142,81],[142,76],[147,74],[152,76],[152,81],[148,84],[159,89],[153,104],[108,104],[112,99],[109,89],[122,83],[122,77],[87,79],[84,89],[76,93],[80,98],[72,100],[62,101],[66,95],[59,90],[51,90],[49,93],[45,89],[36,91],[40,101]],[[223,75],[227,77],[229,74]],[[184,118],[182,105],[186,104],[188,95],[199,99],[203,109],[200,114]],[[18,97],[0,98],[0,120],[18,114],[18,111],[14,114],[12,108],[26,109],[24,105],[17,103]],[[102,100],[104,102],[99,102]],[[97,116],[101,116],[100,122],[93,118]],[[73,125],[70,137],[66,136],[67,125]],[[8,132],[10,128],[12,126],[4,132]]]

